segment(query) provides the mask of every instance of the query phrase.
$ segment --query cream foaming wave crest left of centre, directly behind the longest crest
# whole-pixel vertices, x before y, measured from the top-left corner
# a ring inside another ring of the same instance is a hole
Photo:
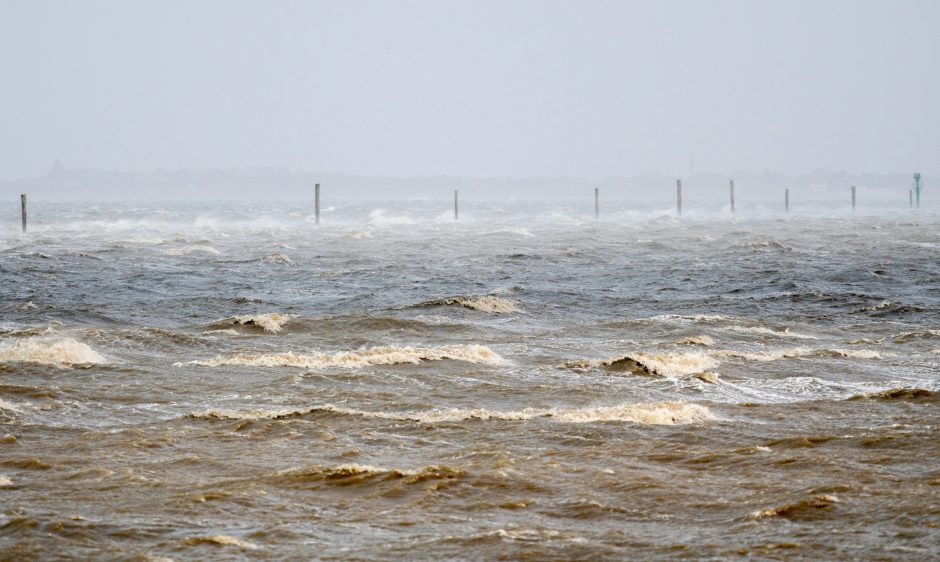
[[[222,367],[226,365],[244,365],[255,367],[300,367],[315,369],[324,367],[357,368],[371,365],[396,365],[402,363],[420,363],[422,361],[441,361],[452,359],[468,363],[498,365],[505,360],[490,348],[483,345],[451,345],[440,348],[421,347],[372,347],[357,351],[339,353],[236,353],[218,356],[214,359],[192,361],[190,365],[203,367]],[[177,364],[179,365],[179,363]]]

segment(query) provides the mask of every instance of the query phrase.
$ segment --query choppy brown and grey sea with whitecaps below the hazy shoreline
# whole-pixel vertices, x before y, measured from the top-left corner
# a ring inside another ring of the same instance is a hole
[[[5,559],[940,544],[940,215],[39,205],[0,230]]]

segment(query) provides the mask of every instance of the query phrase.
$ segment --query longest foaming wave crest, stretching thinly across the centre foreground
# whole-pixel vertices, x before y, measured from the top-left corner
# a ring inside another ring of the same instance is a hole
[[[317,412],[421,423],[446,423],[467,420],[524,421],[534,418],[552,418],[567,423],[622,421],[643,425],[685,425],[717,419],[707,407],[689,402],[620,404],[589,408],[525,408],[508,412],[487,410],[485,408],[446,408],[398,413],[369,412],[324,404],[301,410],[252,410],[247,412],[207,410],[190,414],[190,417],[254,421],[289,419]]]

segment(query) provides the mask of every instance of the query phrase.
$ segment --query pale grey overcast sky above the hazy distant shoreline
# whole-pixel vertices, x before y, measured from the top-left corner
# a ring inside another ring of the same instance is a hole
[[[0,0],[0,178],[940,173],[940,2]]]

